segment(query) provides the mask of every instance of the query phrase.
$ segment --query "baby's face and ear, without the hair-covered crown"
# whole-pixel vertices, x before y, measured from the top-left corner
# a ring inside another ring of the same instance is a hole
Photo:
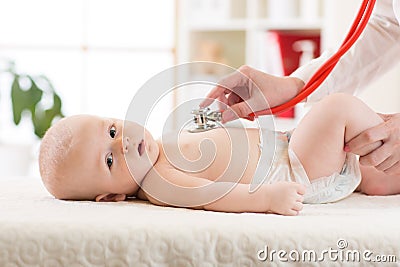
[[[137,123],[80,115],[70,127],[73,143],[64,171],[79,177],[74,184],[86,187],[96,200],[135,194],[157,161],[158,144]]]

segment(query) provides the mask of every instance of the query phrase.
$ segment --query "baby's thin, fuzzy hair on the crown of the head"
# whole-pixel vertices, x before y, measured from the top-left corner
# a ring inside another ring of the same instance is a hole
[[[39,152],[39,171],[46,189],[56,198],[62,198],[64,177],[61,165],[65,162],[72,144],[72,130],[62,119],[44,135]]]

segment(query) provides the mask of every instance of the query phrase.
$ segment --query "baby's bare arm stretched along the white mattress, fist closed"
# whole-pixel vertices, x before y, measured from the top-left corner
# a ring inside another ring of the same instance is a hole
[[[142,184],[147,198],[156,205],[297,215],[305,193],[302,185],[290,182],[263,184],[250,193],[248,184],[214,182],[176,169],[163,172],[163,177],[165,180],[151,175]]]

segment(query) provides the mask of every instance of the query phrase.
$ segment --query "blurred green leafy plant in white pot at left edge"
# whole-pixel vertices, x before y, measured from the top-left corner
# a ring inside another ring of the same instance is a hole
[[[64,117],[61,98],[47,77],[19,73],[12,61],[6,62],[0,74],[10,78],[7,90],[10,90],[12,119],[15,125],[30,121],[33,134],[40,139],[55,118]],[[0,95],[0,105],[5,99]],[[0,154],[5,156],[5,160],[0,162],[4,165],[0,168],[9,175],[25,175],[31,162],[31,151],[32,147],[26,144],[11,145],[1,142]]]

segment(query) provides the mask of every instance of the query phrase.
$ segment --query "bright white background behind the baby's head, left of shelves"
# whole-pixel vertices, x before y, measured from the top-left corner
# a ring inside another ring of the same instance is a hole
[[[174,64],[174,16],[174,0],[0,0],[0,64],[47,76],[66,116],[124,119],[135,92]],[[3,80],[0,69],[0,143],[36,141],[29,118],[12,123]]]

